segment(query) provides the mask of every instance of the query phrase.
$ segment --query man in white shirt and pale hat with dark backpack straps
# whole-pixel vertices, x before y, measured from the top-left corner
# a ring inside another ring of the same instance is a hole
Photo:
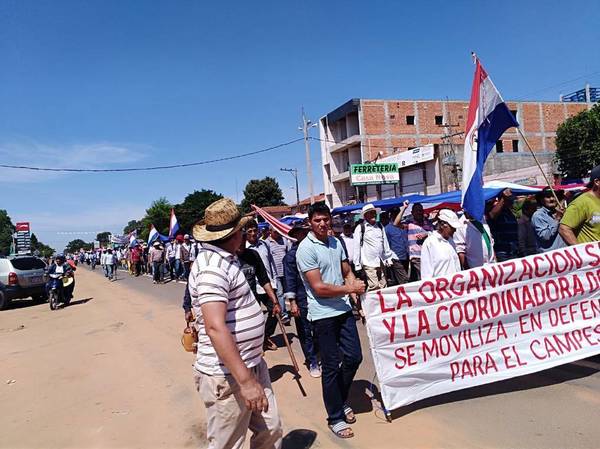
[[[383,265],[391,266],[392,259],[398,258],[390,249],[383,226],[377,222],[378,212],[372,204],[365,205],[361,211],[363,222],[354,230],[354,266],[357,271],[364,271],[369,291],[386,287]]]

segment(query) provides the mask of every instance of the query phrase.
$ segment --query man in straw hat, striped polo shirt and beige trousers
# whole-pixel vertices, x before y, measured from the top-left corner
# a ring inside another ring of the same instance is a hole
[[[251,448],[279,448],[282,441],[262,357],[264,316],[236,256],[247,221],[223,198],[206,208],[193,229],[202,243],[188,283],[198,331],[194,375],[210,449],[241,448],[248,429]]]

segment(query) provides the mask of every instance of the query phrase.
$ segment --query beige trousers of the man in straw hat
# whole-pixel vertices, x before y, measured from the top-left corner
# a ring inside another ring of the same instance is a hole
[[[263,360],[251,370],[269,401],[266,413],[252,413],[246,408],[233,376],[208,376],[194,371],[196,389],[206,407],[208,449],[239,449],[248,430],[252,432],[251,449],[281,447],[283,428],[267,364]]]

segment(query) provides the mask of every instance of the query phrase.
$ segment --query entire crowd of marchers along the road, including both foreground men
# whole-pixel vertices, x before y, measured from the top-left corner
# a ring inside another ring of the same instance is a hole
[[[385,212],[367,204],[356,218],[337,229],[329,208],[317,203],[287,235],[261,234],[254,219],[221,199],[192,236],[151,243],[147,259],[143,244],[113,252],[112,264],[126,260],[132,275],[147,270],[156,283],[167,275],[187,281],[183,308],[198,335],[194,379],[210,448],[242,447],[248,431],[252,448],[281,447],[282,420],[263,359],[277,348],[271,337],[280,318],[295,321],[306,368],[321,378],[329,428],[353,437],[357,417],[348,395],[362,361],[360,295],[600,241],[600,167],[578,194],[547,188],[515,198],[505,190],[486,204],[483,222],[418,203]]]

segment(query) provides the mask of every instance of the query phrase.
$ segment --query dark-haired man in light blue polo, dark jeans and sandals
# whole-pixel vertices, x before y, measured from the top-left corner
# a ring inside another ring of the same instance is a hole
[[[354,433],[348,424],[356,417],[346,400],[362,352],[349,295],[364,293],[366,286],[354,277],[340,241],[328,235],[329,207],[311,205],[308,219],[311,232],[298,246],[296,263],[321,353],[323,402],[329,428],[340,438],[351,438]]]

